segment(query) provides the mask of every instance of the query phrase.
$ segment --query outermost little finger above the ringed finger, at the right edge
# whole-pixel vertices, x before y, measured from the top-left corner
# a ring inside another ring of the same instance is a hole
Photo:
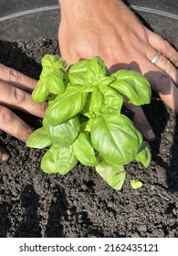
[[[178,67],[178,52],[171,46],[171,44],[147,28],[146,31],[152,48],[160,51],[163,56],[170,59],[173,64]]]

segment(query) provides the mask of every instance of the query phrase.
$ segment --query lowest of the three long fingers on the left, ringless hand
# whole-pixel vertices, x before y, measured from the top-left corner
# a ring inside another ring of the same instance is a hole
[[[0,129],[26,142],[33,129],[5,106],[0,106]]]

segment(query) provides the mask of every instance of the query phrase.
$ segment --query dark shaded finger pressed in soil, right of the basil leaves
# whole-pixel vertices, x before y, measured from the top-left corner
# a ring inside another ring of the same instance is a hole
[[[133,123],[137,129],[141,132],[143,138],[147,141],[155,139],[155,134],[152,131],[152,126],[148,122],[142,108],[140,106],[132,105],[131,102],[124,102],[124,105],[134,113]]]

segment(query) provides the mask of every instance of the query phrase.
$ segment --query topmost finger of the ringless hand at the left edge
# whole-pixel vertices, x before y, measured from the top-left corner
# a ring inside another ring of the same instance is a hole
[[[16,69],[8,68],[3,64],[0,64],[0,80],[28,92],[31,92],[37,86],[37,80],[29,78]]]

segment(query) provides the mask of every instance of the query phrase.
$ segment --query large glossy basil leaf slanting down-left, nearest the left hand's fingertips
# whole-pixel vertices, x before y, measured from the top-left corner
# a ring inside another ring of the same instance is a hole
[[[86,102],[86,92],[80,92],[77,87],[69,86],[47,108],[48,123],[55,126],[66,122],[78,114],[84,108]]]

